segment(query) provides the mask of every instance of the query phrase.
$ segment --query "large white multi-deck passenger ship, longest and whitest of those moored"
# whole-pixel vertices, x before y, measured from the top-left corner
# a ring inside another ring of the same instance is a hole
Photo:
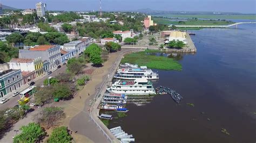
[[[146,77],[137,78],[133,81],[117,81],[114,82],[110,88],[106,89],[110,93],[114,94],[126,94],[126,95],[149,95],[156,94],[151,81],[148,81]]]

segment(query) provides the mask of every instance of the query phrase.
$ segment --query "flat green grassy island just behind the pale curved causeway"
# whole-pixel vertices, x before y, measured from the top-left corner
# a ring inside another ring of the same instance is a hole
[[[161,18],[161,17],[153,17],[153,20],[159,24],[173,24],[173,25],[230,25],[234,22],[230,21],[221,21],[221,20],[193,20],[186,19],[184,24],[179,24],[178,22],[173,22],[171,18]],[[179,20],[179,19],[176,19]],[[181,20],[181,19],[180,19]]]

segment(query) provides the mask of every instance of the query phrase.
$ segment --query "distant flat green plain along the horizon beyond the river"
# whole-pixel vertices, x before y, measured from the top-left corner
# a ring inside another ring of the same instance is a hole
[[[153,15],[156,17],[207,18],[207,19],[256,19],[256,15]]]

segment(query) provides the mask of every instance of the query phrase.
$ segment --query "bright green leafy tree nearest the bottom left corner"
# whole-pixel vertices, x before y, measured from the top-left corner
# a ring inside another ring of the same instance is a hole
[[[20,130],[22,133],[15,136],[14,142],[37,142],[45,135],[43,128],[36,123],[22,126]]]

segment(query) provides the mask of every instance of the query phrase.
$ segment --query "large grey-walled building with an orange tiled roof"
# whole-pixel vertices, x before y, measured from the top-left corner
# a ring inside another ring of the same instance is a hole
[[[60,64],[60,46],[59,45],[39,45],[29,50],[20,49],[19,50],[19,58],[24,59],[36,59],[38,57],[42,57],[43,61],[49,61],[49,68],[53,69],[54,67]]]

